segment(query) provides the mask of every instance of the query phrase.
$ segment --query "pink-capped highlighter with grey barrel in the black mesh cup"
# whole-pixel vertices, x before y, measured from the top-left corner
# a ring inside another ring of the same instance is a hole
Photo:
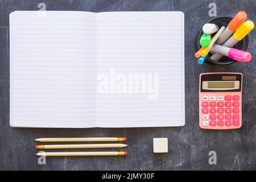
[[[247,63],[251,61],[251,54],[236,48],[229,48],[214,44],[210,49],[212,52],[220,53],[221,55],[228,56],[233,60]]]

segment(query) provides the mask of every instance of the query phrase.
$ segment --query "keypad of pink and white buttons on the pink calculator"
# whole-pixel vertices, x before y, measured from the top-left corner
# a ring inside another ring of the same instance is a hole
[[[240,96],[202,96],[201,125],[221,129],[240,126]]]

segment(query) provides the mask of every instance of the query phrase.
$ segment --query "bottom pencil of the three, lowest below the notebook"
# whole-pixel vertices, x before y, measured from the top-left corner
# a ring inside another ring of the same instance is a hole
[[[40,152],[38,156],[121,156],[127,152]]]

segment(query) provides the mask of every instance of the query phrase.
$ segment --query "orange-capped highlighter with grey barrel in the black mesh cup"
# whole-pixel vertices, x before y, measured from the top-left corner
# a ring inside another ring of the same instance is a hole
[[[222,32],[220,38],[218,38],[216,44],[222,45],[230,36],[232,36],[233,32],[237,30],[237,28],[245,22],[247,19],[247,14],[244,11],[239,11],[236,16],[229,22],[228,27],[226,27],[225,31]]]

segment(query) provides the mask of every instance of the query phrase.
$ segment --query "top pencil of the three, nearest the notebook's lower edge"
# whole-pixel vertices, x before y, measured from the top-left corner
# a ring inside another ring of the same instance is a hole
[[[126,137],[98,137],[98,138],[38,138],[38,142],[122,142]]]

